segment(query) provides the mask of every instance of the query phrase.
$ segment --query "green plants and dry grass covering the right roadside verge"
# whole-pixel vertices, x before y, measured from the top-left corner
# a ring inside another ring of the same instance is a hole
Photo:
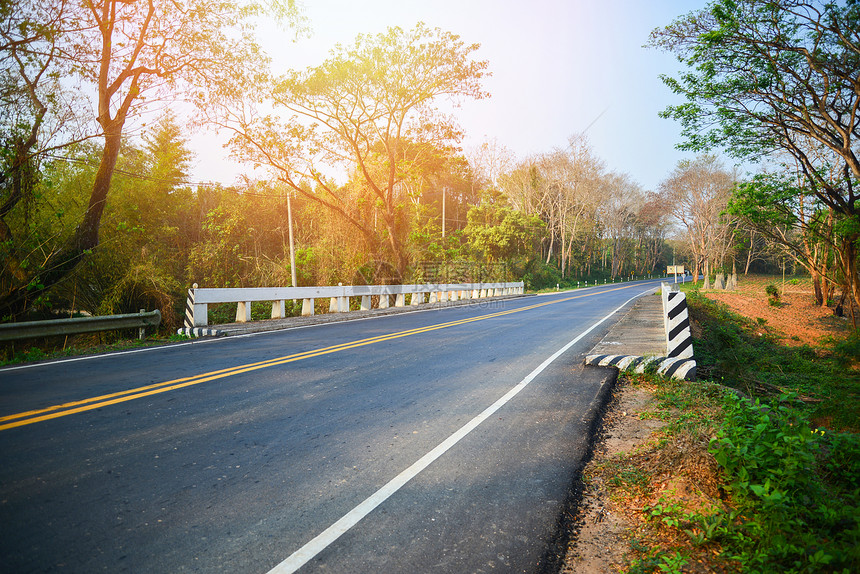
[[[622,570],[857,572],[857,336],[787,346],[697,289],[688,301],[700,380],[623,375],[653,395],[639,418],[665,426],[584,476],[631,520]]]

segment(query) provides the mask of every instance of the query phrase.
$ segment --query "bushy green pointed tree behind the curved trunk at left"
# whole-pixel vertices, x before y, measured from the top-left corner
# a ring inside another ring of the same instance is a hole
[[[155,145],[158,142],[158,145]],[[40,205],[68,196],[73,202],[71,222],[86,209],[88,188],[100,162],[93,143],[69,148],[62,161],[46,171]],[[184,274],[190,238],[195,234],[196,205],[181,170],[163,177],[160,165],[187,165],[191,157],[185,140],[167,115],[144,135],[143,145],[126,141],[117,158],[111,195],[101,224],[102,249],[95,250],[51,291],[52,302],[64,309],[90,313],[126,313],[140,308],[160,309],[165,326],[178,318],[174,301],[184,293]],[[157,177],[162,175],[162,177]],[[48,225],[50,212],[40,210]],[[73,236],[74,227],[65,237]],[[54,249],[64,238],[52,241]]]

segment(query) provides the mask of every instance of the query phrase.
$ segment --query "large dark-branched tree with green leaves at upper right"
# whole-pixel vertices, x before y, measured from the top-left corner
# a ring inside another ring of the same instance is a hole
[[[682,147],[794,158],[805,189],[839,220],[840,267],[860,302],[860,3],[716,0],[654,30],[650,44],[689,68],[663,77],[687,100],[662,114],[681,123]],[[763,205],[781,199],[760,191]]]

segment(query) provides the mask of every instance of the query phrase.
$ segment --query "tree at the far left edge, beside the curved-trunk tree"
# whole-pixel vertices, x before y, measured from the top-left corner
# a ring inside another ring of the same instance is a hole
[[[30,283],[30,256],[51,235],[32,225],[42,159],[82,139],[59,82],[68,71],[60,31],[72,25],[71,6],[0,2],[0,299]]]

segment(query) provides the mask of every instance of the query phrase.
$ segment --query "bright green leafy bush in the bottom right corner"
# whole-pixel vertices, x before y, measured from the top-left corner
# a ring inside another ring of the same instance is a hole
[[[779,402],[766,408],[728,399],[711,452],[739,509],[738,520],[720,535],[744,572],[857,570],[858,451],[856,434],[811,430]],[[851,457],[847,472],[834,472]]]

